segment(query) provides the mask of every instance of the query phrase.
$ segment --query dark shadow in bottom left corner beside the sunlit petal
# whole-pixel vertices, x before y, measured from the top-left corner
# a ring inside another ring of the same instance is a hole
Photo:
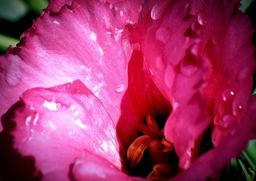
[[[12,118],[15,109],[24,106],[17,102],[1,116],[3,131],[0,132],[0,179],[3,181],[38,181],[42,179],[42,173],[35,168],[33,157],[23,157],[13,148],[12,130],[15,122]]]

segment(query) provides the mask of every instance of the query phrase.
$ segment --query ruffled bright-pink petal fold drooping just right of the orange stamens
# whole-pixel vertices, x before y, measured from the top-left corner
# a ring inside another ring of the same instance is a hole
[[[191,164],[196,141],[210,123],[209,106],[204,97],[210,64],[201,56],[200,42],[189,37],[195,21],[195,17],[188,19],[189,13],[193,13],[189,12],[192,5],[184,1],[153,4],[151,19],[145,18],[150,22],[145,22],[147,33],[143,44],[148,66],[154,73],[153,80],[172,103],[173,111],[164,133],[174,143],[180,168]]]

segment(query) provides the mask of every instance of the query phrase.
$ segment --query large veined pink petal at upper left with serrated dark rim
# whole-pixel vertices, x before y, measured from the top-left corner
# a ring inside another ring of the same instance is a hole
[[[141,1],[113,3],[51,1],[19,47],[0,57],[0,115],[29,88],[80,79],[116,122],[131,56],[122,31],[138,21]]]

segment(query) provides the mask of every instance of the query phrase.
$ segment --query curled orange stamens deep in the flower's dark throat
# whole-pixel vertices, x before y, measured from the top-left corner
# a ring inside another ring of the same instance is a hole
[[[127,150],[127,161],[133,171],[143,159],[143,154],[148,149],[150,164],[154,165],[153,171],[148,175],[150,180],[163,180],[174,173],[174,168],[168,164],[173,150],[172,143],[164,138],[164,131],[159,131],[156,120],[147,115],[147,125],[137,123],[136,128],[144,134],[136,138]]]

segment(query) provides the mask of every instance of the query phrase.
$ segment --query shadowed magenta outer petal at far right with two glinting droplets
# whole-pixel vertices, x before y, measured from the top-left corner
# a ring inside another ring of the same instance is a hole
[[[223,61],[218,61],[220,57],[212,58],[213,72],[218,72],[216,74],[220,75],[218,83],[211,86],[216,91],[214,106],[216,127],[212,135],[214,145],[219,145],[226,134],[233,131],[234,125],[239,121],[239,114],[246,109],[256,65],[252,24],[246,15],[234,9],[235,3],[239,2],[232,1],[225,7],[226,31],[225,37],[221,37],[225,38],[225,42],[220,43],[223,47],[221,52]],[[222,66],[217,67],[216,65],[220,63]],[[214,73],[211,75],[211,82],[216,81]]]

